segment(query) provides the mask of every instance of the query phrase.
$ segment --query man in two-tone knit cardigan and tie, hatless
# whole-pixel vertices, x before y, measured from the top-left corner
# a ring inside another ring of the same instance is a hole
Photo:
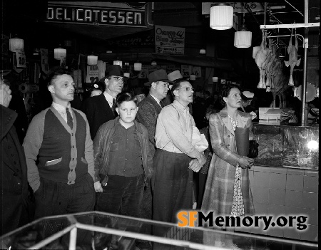
[[[23,145],[35,219],[93,211],[95,204],[93,142],[86,115],[70,105],[73,78],[55,67],[48,90],[53,103],[32,119]]]

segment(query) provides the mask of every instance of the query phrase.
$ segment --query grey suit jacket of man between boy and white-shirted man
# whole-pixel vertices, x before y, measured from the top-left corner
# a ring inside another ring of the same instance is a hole
[[[158,114],[161,113],[161,110],[161,106],[150,94],[138,104],[136,120],[138,120],[138,123],[142,123],[148,130],[149,145],[151,147],[152,155],[154,155],[156,151],[154,137]]]

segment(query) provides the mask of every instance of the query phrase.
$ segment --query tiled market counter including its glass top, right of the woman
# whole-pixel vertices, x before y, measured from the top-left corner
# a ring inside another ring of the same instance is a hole
[[[259,142],[259,155],[249,171],[255,214],[305,215],[308,226],[305,231],[294,227],[274,227],[267,231],[252,227],[242,231],[317,241],[319,127],[253,123],[253,132]]]

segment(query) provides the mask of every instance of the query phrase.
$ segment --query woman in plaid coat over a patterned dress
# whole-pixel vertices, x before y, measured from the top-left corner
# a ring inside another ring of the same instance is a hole
[[[238,155],[234,132],[235,127],[250,127],[251,140],[252,120],[248,113],[238,111],[241,97],[237,85],[225,85],[222,95],[225,108],[220,113],[210,115],[210,142],[214,153],[201,211],[205,214],[213,211],[215,217],[253,215],[255,212],[248,175],[253,159]],[[220,245],[220,242],[218,239],[216,245]],[[230,244],[233,244],[231,240]]]

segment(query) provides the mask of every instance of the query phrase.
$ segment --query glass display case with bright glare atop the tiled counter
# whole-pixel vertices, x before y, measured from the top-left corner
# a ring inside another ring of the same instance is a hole
[[[255,165],[319,170],[319,127],[253,123]]]

